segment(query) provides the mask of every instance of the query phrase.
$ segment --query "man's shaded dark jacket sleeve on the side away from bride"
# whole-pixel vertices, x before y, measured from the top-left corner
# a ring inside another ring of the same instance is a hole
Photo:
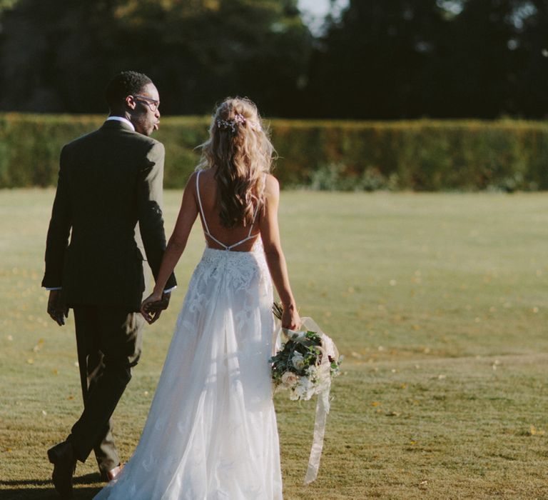
[[[46,239],[46,271],[42,286],[57,288],[63,283],[63,267],[68,246],[68,236],[71,232],[71,203],[66,179],[66,147],[61,151],[59,161],[59,179],[51,210],[48,236]]]

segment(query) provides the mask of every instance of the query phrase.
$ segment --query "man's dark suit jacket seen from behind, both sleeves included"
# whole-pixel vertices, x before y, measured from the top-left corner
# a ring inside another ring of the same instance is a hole
[[[64,146],[42,286],[62,286],[70,306],[139,310],[145,284],[136,223],[155,279],[166,249],[163,160],[160,142],[121,121]],[[172,275],[166,288],[175,285]]]

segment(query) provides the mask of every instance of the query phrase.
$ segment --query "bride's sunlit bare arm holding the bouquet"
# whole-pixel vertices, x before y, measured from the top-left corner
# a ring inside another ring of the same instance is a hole
[[[282,326],[297,329],[300,317],[293,292],[289,284],[288,266],[280,243],[278,227],[278,205],[280,204],[280,184],[274,176],[267,176],[265,186],[265,210],[260,218],[260,236],[265,247],[265,257],[270,276],[283,305]]]

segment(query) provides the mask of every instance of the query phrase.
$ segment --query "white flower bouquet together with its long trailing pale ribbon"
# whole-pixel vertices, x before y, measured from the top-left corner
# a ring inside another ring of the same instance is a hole
[[[281,319],[282,306],[274,303],[273,313]],[[301,321],[302,331],[281,329],[285,341],[270,362],[275,388],[289,389],[290,399],[306,401],[318,394],[314,438],[305,476],[305,484],[309,484],[318,476],[330,406],[331,379],[339,374],[342,356],[339,356],[333,340],[321,331],[312,318],[302,318]]]

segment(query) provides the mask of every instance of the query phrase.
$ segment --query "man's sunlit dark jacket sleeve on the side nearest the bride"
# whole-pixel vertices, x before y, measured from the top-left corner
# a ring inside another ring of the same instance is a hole
[[[164,157],[163,144],[154,143],[146,156],[146,167],[138,174],[139,229],[145,247],[146,259],[154,279],[158,277],[163,252],[166,250],[166,234],[163,229],[161,209]],[[166,283],[166,289],[170,289],[176,284],[175,275],[171,274]]]

